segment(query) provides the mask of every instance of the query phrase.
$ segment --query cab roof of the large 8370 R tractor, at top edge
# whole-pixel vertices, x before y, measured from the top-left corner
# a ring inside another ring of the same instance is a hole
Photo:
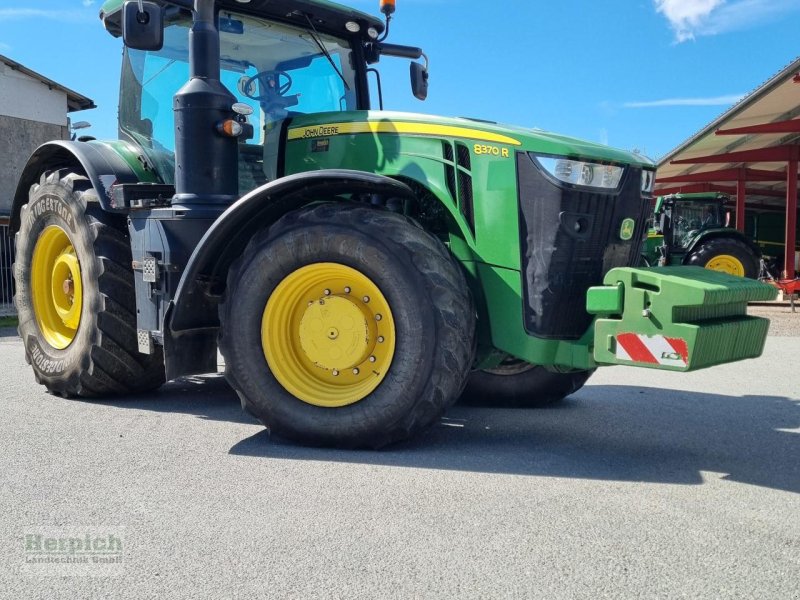
[[[158,1],[158,0],[156,0]],[[376,0],[377,1],[377,0]],[[100,9],[100,18],[111,35],[122,35],[122,6],[125,0],[106,0]],[[321,31],[352,37],[345,24],[355,21],[361,25],[362,36],[366,35],[368,28],[375,28],[378,33],[383,33],[384,24],[379,18],[352,9],[342,4],[328,2],[328,0],[252,0],[242,4],[236,0],[217,0],[217,6],[223,10],[248,14],[255,17],[278,19],[287,23],[295,23],[306,27],[304,14],[311,15],[314,25]]]

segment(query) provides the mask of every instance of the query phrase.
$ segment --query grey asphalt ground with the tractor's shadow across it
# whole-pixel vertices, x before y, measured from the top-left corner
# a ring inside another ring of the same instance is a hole
[[[271,439],[217,377],[49,396],[6,335],[0,598],[800,598],[799,351],[605,368],[555,408],[339,452]],[[121,563],[31,565],[39,532]]]

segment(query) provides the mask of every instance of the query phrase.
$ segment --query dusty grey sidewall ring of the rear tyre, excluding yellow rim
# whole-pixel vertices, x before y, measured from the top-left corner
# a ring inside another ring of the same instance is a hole
[[[96,317],[101,303],[96,286],[100,273],[95,260],[93,239],[87,223],[86,202],[80,193],[73,193],[60,182],[48,182],[32,191],[28,204],[22,207],[20,230],[16,236],[14,275],[17,292],[15,303],[19,317],[19,334],[25,344],[28,360],[37,376],[58,383],[78,377],[89,368],[89,353],[85,349],[96,340]],[[66,232],[75,248],[81,269],[82,309],[78,329],[72,343],[64,349],[51,346],[42,335],[32,302],[33,252],[46,227],[55,225]],[[48,387],[51,387],[49,385]]]

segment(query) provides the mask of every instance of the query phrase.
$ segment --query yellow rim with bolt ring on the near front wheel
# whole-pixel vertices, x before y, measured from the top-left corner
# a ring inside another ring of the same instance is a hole
[[[389,372],[394,318],[363,273],[315,263],[291,273],[269,297],[261,345],[273,375],[293,396],[314,406],[348,406]]]

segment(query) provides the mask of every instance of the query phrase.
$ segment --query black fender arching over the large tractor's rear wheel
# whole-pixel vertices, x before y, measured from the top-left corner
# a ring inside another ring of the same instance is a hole
[[[39,146],[28,159],[19,178],[11,206],[11,230],[19,229],[19,212],[28,201],[31,186],[39,183],[41,174],[54,169],[73,169],[85,174],[100,199],[103,210],[126,212],[111,203],[110,189],[115,183],[140,181],[161,183],[143,154],[128,142],[72,142],[55,140]]]

